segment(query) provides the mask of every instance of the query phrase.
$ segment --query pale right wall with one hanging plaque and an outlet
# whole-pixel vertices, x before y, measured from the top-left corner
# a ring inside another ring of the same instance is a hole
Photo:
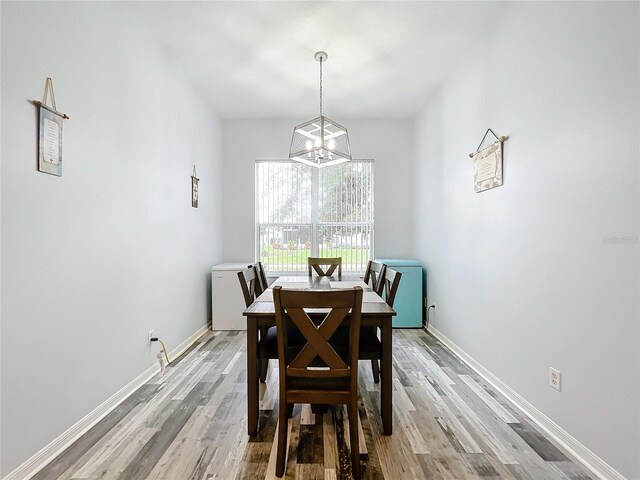
[[[639,4],[520,4],[416,122],[433,325],[640,478]],[[474,193],[487,127],[505,184]],[[548,369],[563,391],[548,386]]]

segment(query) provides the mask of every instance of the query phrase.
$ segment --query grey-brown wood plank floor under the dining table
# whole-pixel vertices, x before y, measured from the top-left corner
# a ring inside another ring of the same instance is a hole
[[[245,351],[244,332],[209,333],[33,479],[275,478],[278,369],[270,362],[249,437]],[[595,478],[431,335],[395,330],[393,353],[391,436],[370,364],[360,362],[363,478]],[[342,407],[314,415],[297,405],[289,432],[285,478],[351,478]]]

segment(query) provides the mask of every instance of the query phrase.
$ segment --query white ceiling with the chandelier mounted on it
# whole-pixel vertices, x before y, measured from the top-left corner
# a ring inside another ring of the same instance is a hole
[[[410,118],[502,21],[504,2],[139,2],[222,118]]]

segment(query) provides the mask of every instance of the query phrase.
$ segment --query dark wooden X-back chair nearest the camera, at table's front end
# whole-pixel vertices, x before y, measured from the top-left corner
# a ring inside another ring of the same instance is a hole
[[[358,343],[362,289],[285,290],[273,289],[278,334],[280,399],[276,476],[285,472],[288,418],[296,403],[347,406],[353,477],[360,478],[358,440]],[[319,321],[305,308],[330,309]],[[351,312],[351,313],[349,313]],[[349,343],[337,351],[330,343],[334,333],[350,315]],[[297,327],[304,342],[292,345],[287,330]]]

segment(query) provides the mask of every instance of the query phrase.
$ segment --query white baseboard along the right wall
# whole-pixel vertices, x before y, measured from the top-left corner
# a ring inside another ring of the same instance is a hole
[[[564,447],[569,454],[581,462],[586,468],[603,480],[626,480],[625,477],[617,470],[611,467],[607,462],[598,457],[595,453],[585,447],[582,443],[572,437],[563,430],[558,424],[547,417],[544,413],[529,403],[524,397],[520,396],[509,385],[504,383],[493,373],[487,370],[482,364],[478,363],[472,356],[462,350],[445,334],[440,332],[433,325],[429,326],[429,333],[442,342],[449,350],[451,350],[460,360],[471,367],[478,375],[489,382],[502,395],[507,397],[519,410],[529,417],[536,425],[544,430],[551,438]]]

